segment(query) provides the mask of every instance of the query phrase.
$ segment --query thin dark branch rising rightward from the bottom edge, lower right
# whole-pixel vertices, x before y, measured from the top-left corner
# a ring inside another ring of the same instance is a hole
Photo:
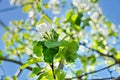
[[[72,77],[72,78],[67,78],[66,80],[71,80],[71,79],[76,79],[76,78],[81,79],[81,78],[84,77],[84,76],[87,76],[87,75],[89,75],[89,74],[93,74],[93,73],[100,72],[100,71],[105,70],[105,69],[108,69],[108,68],[110,68],[110,67],[112,67],[112,66],[114,66],[114,65],[116,65],[116,64],[118,64],[118,62],[115,62],[114,64],[111,64],[111,65],[109,65],[109,66],[107,66],[107,67],[104,67],[104,68],[99,69],[99,70],[96,70],[96,71],[88,72],[88,73],[82,74],[82,75],[80,75],[80,76]]]

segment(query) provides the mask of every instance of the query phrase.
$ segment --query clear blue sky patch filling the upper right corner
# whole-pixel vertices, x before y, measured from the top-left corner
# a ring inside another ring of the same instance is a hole
[[[103,14],[114,24],[120,24],[120,0],[99,0]]]

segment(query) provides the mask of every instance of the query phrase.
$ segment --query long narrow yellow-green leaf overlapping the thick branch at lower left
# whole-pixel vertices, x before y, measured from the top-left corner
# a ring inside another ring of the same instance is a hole
[[[35,64],[35,63],[38,63],[38,62],[41,62],[42,60],[40,58],[31,58],[29,59],[26,63],[24,63],[20,69],[24,69],[26,67],[28,67],[29,65],[31,64]]]

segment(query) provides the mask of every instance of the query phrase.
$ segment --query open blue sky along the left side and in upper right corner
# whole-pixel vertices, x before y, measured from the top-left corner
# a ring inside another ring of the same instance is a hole
[[[99,4],[102,8],[103,14],[114,24],[119,25],[120,24],[120,0],[100,0]],[[0,2],[0,10],[4,8],[9,8],[9,0],[1,0]],[[2,20],[6,25],[9,24],[9,21],[11,20],[20,20],[20,19],[26,19],[27,14],[22,12],[21,8],[18,8],[16,10],[7,11],[7,12],[0,12],[0,20]],[[4,33],[4,30],[2,26],[0,25],[0,49],[4,49],[4,44],[2,42],[2,34]],[[6,75],[12,75],[16,72],[18,69],[18,65],[14,65],[13,63],[5,62],[3,63],[3,67],[5,68]],[[26,75],[27,70],[23,71],[22,75],[20,76],[21,80],[28,80],[27,77],[22,77]],[[1,72],[0,72],[1,76]]]

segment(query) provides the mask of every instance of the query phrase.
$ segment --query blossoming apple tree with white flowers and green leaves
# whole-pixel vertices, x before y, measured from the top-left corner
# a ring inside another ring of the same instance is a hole
[[[10,4],[23,7],[28,17],[4,27],[6,51],[0,51],[1,63],[19,64],[20,71],[30,70],[29,78],[36,80],[92,80],[104,70],[120,72],[120,29],[103,15],[98,0],[10,0]]]

